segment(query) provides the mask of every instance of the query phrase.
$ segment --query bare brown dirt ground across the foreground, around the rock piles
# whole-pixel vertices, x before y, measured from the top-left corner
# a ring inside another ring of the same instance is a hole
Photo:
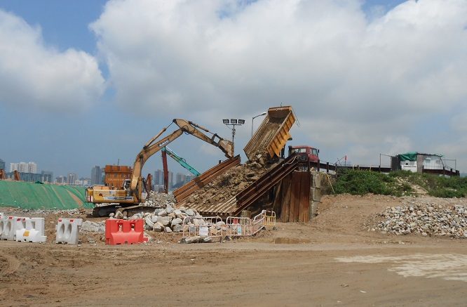
[[[467,204],[326,196],[309,223],[209,244],[160,234],[111,246],[95,233],[55,244],[58,216],[50,214],[48,242],[0,241],[0,305],[465,306],[466,240],[367,230],[372,214],[420,200]]]

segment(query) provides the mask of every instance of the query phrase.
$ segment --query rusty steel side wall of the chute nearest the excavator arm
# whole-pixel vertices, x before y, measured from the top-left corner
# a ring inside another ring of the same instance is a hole
[[[180,188],[177,188],[177,190],[174,190],[173,195],[175,200],[177,202],[182,202],[182,200],[191,195],[191,193],[203,188],[205,185],[217,178],[217,176],[224,174],[226,171],[234,166],[237,166],[238,164],[240,164],[240,155],[226,159],[222,163],[217,164],[211,169],[208,169],[208,171],[205,171],[200,176],[194,178],[186,185],[183,185]]]

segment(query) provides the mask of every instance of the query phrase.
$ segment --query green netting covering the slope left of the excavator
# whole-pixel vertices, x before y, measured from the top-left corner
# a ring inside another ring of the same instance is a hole
[[[93,208],[84,201],[85,188],[0,180],[0,207],[22,209]]]

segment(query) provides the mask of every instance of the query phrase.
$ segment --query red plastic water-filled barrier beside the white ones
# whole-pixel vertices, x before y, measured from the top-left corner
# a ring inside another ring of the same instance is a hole
[[[137,220],[105,220],[106,244],[135,244],[147,242],[143,237],[144,221]]]

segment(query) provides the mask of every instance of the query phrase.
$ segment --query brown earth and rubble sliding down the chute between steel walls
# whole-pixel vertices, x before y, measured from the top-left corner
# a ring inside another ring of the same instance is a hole
[[[258,154],[255,161],[248,161],[229,169],[187,197],[184,205],[191,207],[194,204],[221,203],[236,196],[271,168],[271,165],[268,165],[263,157],[264,155]]]

